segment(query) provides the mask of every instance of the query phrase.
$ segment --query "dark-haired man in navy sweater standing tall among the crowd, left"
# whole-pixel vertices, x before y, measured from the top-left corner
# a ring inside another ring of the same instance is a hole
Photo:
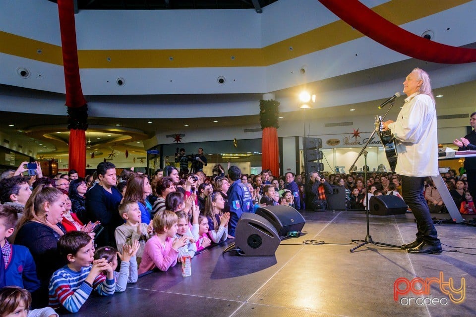
[[[101,221],[104,231],[95,237],[98,247],[116,246],[114,232],[123,223],[119,215],[122,195],[116,188],[116,165],[101,162],[97,168],[99,183],[86,195],[86,216],[88,220]]]

